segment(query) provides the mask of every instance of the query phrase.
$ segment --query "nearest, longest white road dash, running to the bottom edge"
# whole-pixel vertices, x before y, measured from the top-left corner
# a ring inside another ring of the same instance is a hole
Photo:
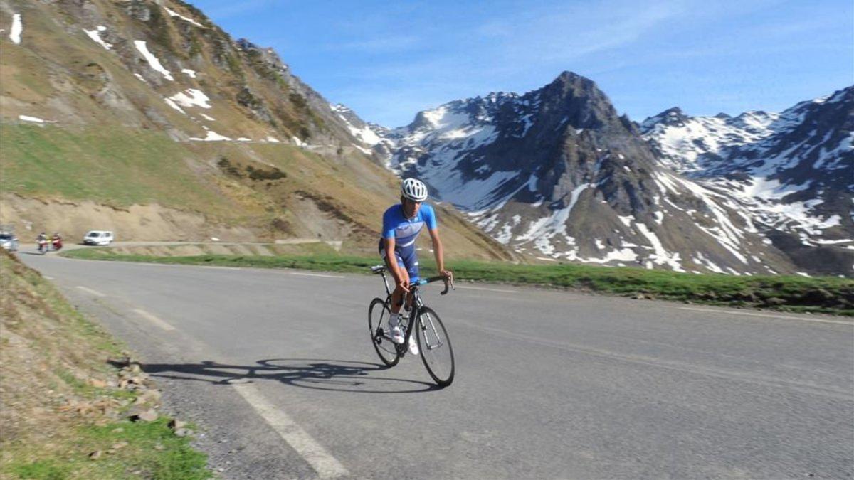
[[[317,471],[318,477],[334,478],[350,474],[344,465],[341,465],[341,462],[330,455],[312,436],[308,435],[306,430],[302,430],[300,425],[290,419],[287,413],[267,401],[253,384],[235,384],[234,389],[243,396],[244,400],[249,402],[249,405],[267,424],[272,426],[273,430],[278,432],[279,436],[282,436],[285,442],[288,442],[291,448],[296,450],[296,453],[300,454],[309,465],[312,465],[314,471]]]

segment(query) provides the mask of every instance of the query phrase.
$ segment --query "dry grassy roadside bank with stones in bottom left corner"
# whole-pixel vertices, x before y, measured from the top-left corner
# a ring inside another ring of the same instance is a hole
[[[0,286],[3,478],[211,477],[169,419],[126,419],[155,390],[122,387],[117,342],[5,250]]]

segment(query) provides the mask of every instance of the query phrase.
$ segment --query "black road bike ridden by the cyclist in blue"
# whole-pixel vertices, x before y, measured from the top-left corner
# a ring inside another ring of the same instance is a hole
[[[421,352],[421,360],[430,377],[441,387],[447,387],[453,382],[453,348],[451,338],[447,336],[445,325],[439,315],[424,305],[418,287],[421,285],[442,280],[445,282],[445,290],[442,295],[447,294],[448,285],[453,288],[453,282],[442,277],[431,277],[418,280],[410,285],[412,292],[412,304],[409,309],[409,321],[401,322],[403,329],[403,343],[395,343],[386,331],[386,324],[391,315],[391,292],[389,279],[386,277],[386,268],[383,265],[371,266],[371,272],[383,276],[385,285],[385,300],[375,298],[371,300],[368,307],[368,327],[371,332],[371,342],[377,350],[380,360],[387,366],[395,366],[401,358],[407,354],[409,337],[413,335],[418,339],[418,349]],[[405,306],[406,308],[406,306]],[[404,325],[405,324],[405,325]]]

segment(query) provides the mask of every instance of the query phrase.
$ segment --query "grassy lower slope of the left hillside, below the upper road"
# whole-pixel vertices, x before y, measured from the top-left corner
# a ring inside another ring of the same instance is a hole
[[[175,142],[162,132],[121,126],[4,125],[0,157],[5,194],[123,209],[154,204],[249,228],[259,240],[344,240],[348,249],[365,253],[374,248],[383,210],[398,201],[397,179],[364,157],[320,155],[284,143]],[[50,203],[44,208],[50,209]],[[439,208],[449,249],[471,258],[509,258],[503,246],[459,213]],[[38,224],[44,213],[39,209],[17,214]],[[11,208],[2,210],[0,221],[14,221]],[[103,223],[75,221],[35,228],[78,237],[88,225]],[[181,238],[205,238],[196,225],[173,223],[184,228]],[[127,226],[117,235],[135,239]]]

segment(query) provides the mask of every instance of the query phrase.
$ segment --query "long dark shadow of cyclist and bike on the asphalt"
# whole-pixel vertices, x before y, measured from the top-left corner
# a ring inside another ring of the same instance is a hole
[[[111,362],[114,366],[123,366]],[[218,385],[276,380],[304,389],[348,391],[354,393],[417,393],[441,389],[434,383],[405,378],[378,377],[388,370],[377,363],[325,359],[266,359],[255,365],[228,365],[211,360],[184,364],[140,364],[143,372],[155,378],[208,382]]]

